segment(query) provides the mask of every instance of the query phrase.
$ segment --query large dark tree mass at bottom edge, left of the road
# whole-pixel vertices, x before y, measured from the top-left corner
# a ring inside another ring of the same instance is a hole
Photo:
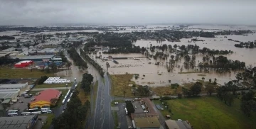
[[[64,113],[60,116],[53,118],[54,129],[73,129],[85,128],[82,123],[87,117],[87,111],[90,109],[90,102],[86,101],[82,104],[78,98],[78,91],[75,91],[70,101],[67,103]]]

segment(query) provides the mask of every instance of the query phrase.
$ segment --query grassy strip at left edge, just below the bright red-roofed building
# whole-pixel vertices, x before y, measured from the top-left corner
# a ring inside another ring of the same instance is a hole
[[[39,69],[15,69],[13,67],[0,67],[1,79],[18,79],[18,78],[40,78],[41,76],[54,77],[54,73],[41,72]]]

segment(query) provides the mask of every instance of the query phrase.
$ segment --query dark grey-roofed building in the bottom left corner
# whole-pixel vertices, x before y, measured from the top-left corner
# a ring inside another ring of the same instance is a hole
[[[14,116],[1,117],[0,128],[4,129],[32,129],[38,119],[37,115],[33,116]]]

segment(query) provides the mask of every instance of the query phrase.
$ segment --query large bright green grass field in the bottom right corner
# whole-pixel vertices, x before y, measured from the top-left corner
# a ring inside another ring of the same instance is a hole
[[[245,116],[240,111],[239,99],[235,99],[232,106],[215,96],[169,100],[167,103],[173,115],[165,109],[161,111],[163,116],[169,114],[174,120],[188,120],[194,128],[256,128],[256,113],[250,118]]]

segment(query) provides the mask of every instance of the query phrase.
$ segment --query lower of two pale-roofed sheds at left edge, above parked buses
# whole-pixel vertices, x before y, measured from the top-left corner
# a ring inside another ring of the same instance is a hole
[[[1,89],[0,90],[0,100],[1,99],[17,99],[20,89]]]

